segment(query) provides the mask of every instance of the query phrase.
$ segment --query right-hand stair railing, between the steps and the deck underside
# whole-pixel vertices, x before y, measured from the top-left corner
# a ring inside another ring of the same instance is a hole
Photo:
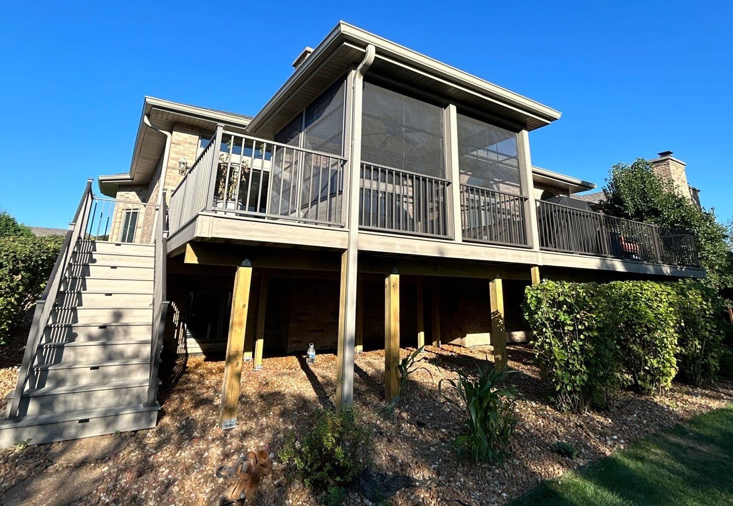
[[[152,327],[150,335],[150,378],[147,386],[145,406],[155,406],[158,397],[158,368],[161,365],[163,333],[166,329],[166,315],[170,302],[166,300],[166,260],[168,257],[168,208],[166,192],[163,190],[161,207],[155,223],[155,264],[152,282]]]

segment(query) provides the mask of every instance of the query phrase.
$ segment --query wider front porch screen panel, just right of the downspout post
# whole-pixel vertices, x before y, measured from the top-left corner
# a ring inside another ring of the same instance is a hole
[[[364,83],[361,159],[383,167],[445,177],[443,108]]]

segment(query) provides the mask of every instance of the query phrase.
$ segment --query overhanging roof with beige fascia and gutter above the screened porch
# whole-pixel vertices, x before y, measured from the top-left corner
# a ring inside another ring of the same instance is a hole
[[[393,76],[406,86],[448,97],[528,130],[560,117],[547,105],[340,21],[254,116],[248,130],[259,137],[274,135],[331,82],[361,62],[369,44],[376,48],[369,73]]]

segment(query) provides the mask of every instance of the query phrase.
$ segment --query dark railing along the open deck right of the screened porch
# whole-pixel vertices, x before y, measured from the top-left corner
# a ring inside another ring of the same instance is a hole
[[[650,223],[538,201],[542,250],[699,267],[693,235]]]

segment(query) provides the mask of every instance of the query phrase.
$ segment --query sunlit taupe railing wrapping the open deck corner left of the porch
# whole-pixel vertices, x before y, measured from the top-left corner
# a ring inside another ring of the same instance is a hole
[[[204,210],[344,226],[345,161],[219,129],[172,193],[170,231]]]

